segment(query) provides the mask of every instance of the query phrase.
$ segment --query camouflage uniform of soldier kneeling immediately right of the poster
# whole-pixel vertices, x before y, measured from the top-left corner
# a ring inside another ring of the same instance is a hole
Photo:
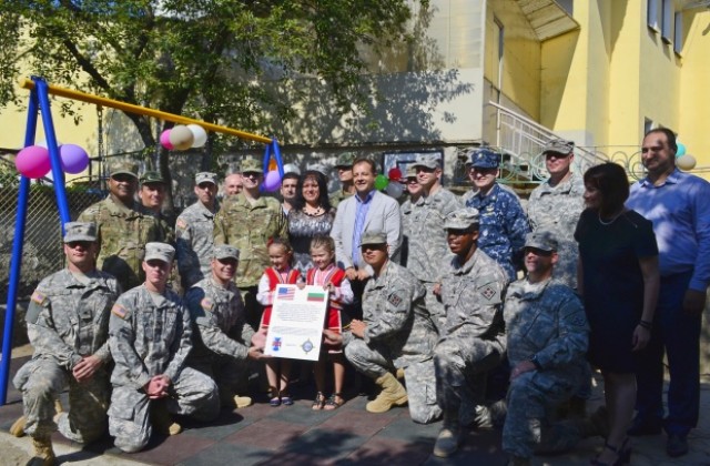
[[[389,261],[372,277],[363,293],[365,337],[345,333],[345,357],[355,368],[378,378],[392,368],[404,368],[409,414],[417,423],[440,415],[432,350],[436,330],[424,304],[424,287],[406,269]]]

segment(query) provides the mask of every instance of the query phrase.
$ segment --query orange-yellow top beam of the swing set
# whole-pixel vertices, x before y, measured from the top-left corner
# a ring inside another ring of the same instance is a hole
[[[32,81],[31,79],[23,79],[22,81],[20,81],[20,87],[32,90],[34,89],[34,81]],[[124,112],[138,113],[141,115],[153,116],[161,120],[172,121],[173,123],[199,124],[200,126],[204,128],[205,131],[231,134],[237,138],[248,139],[251,141],[263,142],[265,144],[271,143],[271,139],[258,135],[258,134],[252,134],[245,131],[234,130],[232,128],[220,126],[219,124],[205,123],[204,121],[193,120],[191,118],[185,118],[185,116],[176,115],[173,113],[161,112],[160,110],[148,109],[141,105],[133,105],[132,103],[120,102],[118,100],[88,94],[85,92],[72,91],[71,89],[60,88],[58,85],[53,85],[50,83],[47,83],[47,91],[53,95],[60,95],[68,99],[93,103],[95,105],[110,107],[112,109],[122,110]]]

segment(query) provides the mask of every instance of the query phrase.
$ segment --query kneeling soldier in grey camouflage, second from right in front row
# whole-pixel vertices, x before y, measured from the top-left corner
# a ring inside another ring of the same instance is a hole
[[[434,350],[436,397],[444,426],[434,455],[447,457],[460,442],[462,406],[483,403],[487,373],[505,355],[503,295],[507,274],[477,247],[478,211],[462,209],[444,222],[456,255],[444,271],[437,293],[446,307],[446,327]]]

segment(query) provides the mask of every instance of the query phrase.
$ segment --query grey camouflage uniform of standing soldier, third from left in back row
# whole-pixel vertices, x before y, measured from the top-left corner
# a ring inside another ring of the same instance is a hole
[[[197,201],[182,211],[175,222],[175,259],[185,290],[212,274],[214,215]]]

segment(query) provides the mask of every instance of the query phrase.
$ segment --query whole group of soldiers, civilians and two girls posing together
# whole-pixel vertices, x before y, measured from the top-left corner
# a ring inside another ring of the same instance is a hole
[[[30,435],[45,464],[55,429],[91,442],[108,427],[136,452],[153,430],[178,434],[173,415],[248,406],[248,359],[266,361],[270,404],[293,404],[288,359],[263,355],[274,290],[287,283],[329,295],[313,409],[346,403],[349,364],[379,388],[368,412],[408,404],[414,422],[443,418],[434,454],[447,457],[466,426],[490,425],[488,379],[503,373],[513,465],[597,434],[606,442],[592,464],[623,464],[628,435],[661,428],[681,456],[698,421],[710,184],[676,169],[674,152],[671,131],[650,131],[648,175],[629,190],[621,166],[581,176],[574,143],[551,141],[550,176],[527,212],[497,183],[500,155],[487,148],[469,154],[460,197],[442,185],[440,159],[418,159],[402,204],[375,189],[367,158],[341,154],[329,195],[320,170],[286,174],[282,202],[262,195],[262,165],[247,158],[222,200],[216,174],[197,173],[197,201],[174,229],[160,174],[115,166],[109,196],[64,225],[67,269],[32,295],[34,355],[14,378],[24,416],[11,432]],[[606,411],[556,418],[561,403],[588,396],[589,364]],[[67,387],[68,413],[58,403]]]

